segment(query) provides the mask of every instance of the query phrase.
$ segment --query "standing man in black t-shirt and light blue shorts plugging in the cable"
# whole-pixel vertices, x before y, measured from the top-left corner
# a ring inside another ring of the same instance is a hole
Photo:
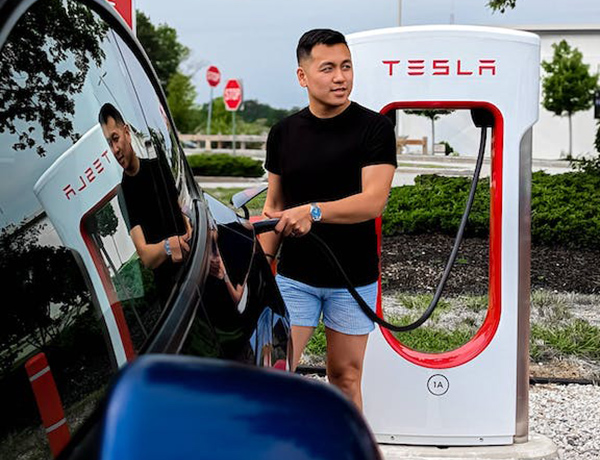
[[[280,222],[261,243],[270,258],[282,243],[277,281],[292,320],[293,368],[322,313],[329,381],[362,408],[362,366],[373,323],[317,246],[302,236],[317,233],[374,308],[379,275],[374,219],[383,211],[396,168],[395,134],[386,117],[350,101],[352,59],[341,33],[306,32],[296,54],[298,82],[309,104],[269,133],[263,214]]]

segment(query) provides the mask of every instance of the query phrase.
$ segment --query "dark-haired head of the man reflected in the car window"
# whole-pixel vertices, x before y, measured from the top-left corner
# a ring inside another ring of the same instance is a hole
[[[129,125],[123,120],[121,112],[114,105],[106,103],[100,109],[98,121],[111,152],[123,170],[130,175],[137,173],[139,161],[131,146]]]

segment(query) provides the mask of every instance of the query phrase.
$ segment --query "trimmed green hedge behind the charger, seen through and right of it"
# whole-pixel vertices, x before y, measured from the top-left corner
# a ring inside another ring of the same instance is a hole
[[[470,187],[464,177],[419,176],[415,185],[394,188],[383,217],[383,232],[443,233],[454,236]],[[489,234],[489,179],[477,187],[465,236]],[[600,175],[536,172],[531,192],[534,244],[600,248]]]

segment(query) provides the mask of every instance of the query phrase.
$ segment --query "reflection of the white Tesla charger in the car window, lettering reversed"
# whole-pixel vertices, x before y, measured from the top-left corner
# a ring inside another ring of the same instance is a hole
[[[66,150],[33,187],[63,244],[80,257],[118,366],[134,357],[133,345],[110,273],[85,223],[117,195],[122,171],[98,124]]]

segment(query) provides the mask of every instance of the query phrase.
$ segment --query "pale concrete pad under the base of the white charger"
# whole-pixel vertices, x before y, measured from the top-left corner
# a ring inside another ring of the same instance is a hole
[[[558,449],[546,436],[531,433],[529,441],[510,446],[447,447],[380,444],[385,460],[556,460]]]

